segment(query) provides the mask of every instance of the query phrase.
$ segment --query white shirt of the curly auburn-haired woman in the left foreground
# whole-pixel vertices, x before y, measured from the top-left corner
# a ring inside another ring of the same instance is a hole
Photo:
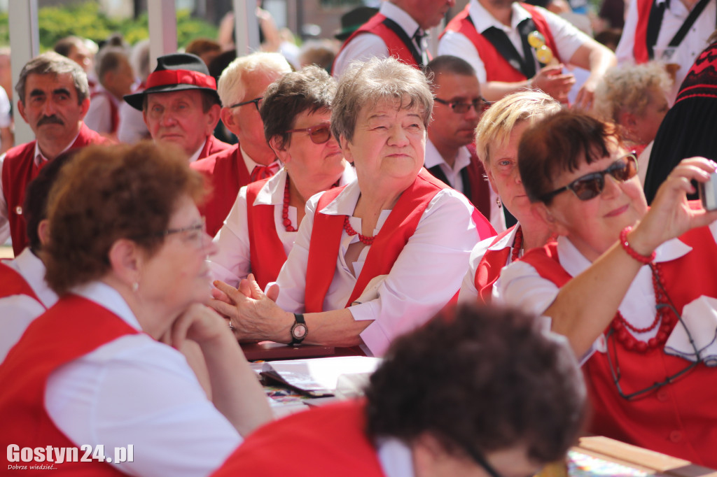
[[[141,329],[112,287],[95,281],[72,292]],[[208,476],[242,442],[184,355],[142,332],[57,368],[47,380],[45,408],[78,445],[103,444],[111,455],[133,444],[134,462],[110,464],[133,476]]]

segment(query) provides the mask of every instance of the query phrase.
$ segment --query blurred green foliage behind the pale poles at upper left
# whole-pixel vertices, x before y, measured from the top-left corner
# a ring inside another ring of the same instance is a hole
[[[125,41],[134,44],[149,37],[148,16],[141,14],[138,19],[110,18],[100,11],[94,1],[80,1],[69,6],[44,6],[38,11],[40,49],[52,49],[58,39],[77,35],[100,42],[110,34],[120,32]],[[0,13],[0,44],[10,44],[7,12]],[[192,18],[188,10],[177,11],[177,43],[185,47],[198,37],[217,38],[217,26],[202,19]]]

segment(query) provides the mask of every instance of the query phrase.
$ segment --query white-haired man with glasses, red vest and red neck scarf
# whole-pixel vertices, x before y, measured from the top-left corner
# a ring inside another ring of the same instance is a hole
[[[253,53],[235,59],[219,77],[222,122],[239,143],[191,164],[212,181],[212,196],[200,208],[211,236],[222,228],[240,188],[269,178],[280,168],[264,137],[259,109],[267,87],[290,71],[278,53]]]

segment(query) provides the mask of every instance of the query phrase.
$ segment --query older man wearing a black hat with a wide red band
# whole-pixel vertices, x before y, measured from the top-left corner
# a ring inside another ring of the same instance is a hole
[[[125,102],[142,111],[153,140],[181,146],[190,163],[230,147],[214,138],[221,110],[217,82],[194,54],[158,57],[147,89],[126,95]]]

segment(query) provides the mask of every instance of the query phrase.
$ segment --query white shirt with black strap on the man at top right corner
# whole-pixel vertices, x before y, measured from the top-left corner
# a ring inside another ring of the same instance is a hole
[[[661,4],[666,0],[657,0],[656,4]],[[654,8],[654,7],[653,7]],[[655,59],[660,59],[670,40],[673,39],[680,27],[685,23],[685,19],[690,14],[690,10],[680,0],[670,0],[669,7],[665,8],[663,16],[663,24],[660,27],[660,34],[657,35],[655,42]],[[675,49],[670,59],[665,59],[665,63],[678,64],[677,74],[675,74],[675,84],[670,90],[668,100],[670,105],[675,101],[675,97],[680,90],[685,76],[690,71],[690,67],[695,62],[698,55],[708,45],[708,39],[715,30],[715,18],[717,16],[717,5],[714,1],[710,1],[700,16],[697,17],[695,23],[690,27],[687,35],[683,39],[680,46]],[[637,0],[630,1],[627,7],[627,16],[625,16],[625,27],[622,29],[622,37],[617,44],[615,56],[617,56],[617,64],[634,64],[635,56],[633,48],[635,47],[635,29],[637,28]]]

